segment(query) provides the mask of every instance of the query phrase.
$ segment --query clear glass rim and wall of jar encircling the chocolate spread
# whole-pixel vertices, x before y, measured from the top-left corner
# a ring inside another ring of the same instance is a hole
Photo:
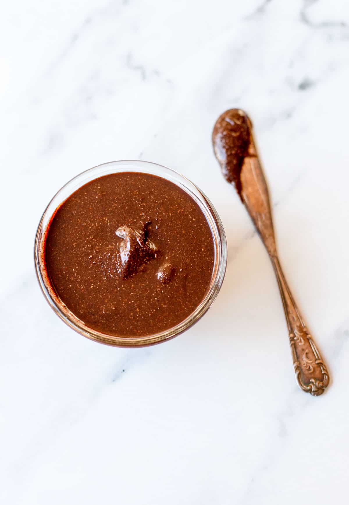
[[[84,184],[93,179],[102,177],[103,175],[114,174],[118,172],[142,172],[152,175],[163,177],[181,189],[186,191],[200,207],[204,214],[208,225],[210,226],[212,237],[215,246],[215,261],[211,277],[210,285],[206,290],[204,298],[196,309],[181,323],[167,330],[161,331],[154,335],[144,336],[115,336],[100,333],[88,327],[83,321],[77,318],[60,300],[57,293],[52,289],[51,283],[48,280],[45,262],[44,262],[44,239],[45,231],[49,225],[55,210],[63,201],[68,198],[72,193],[79,189]],[[50,203],[46,207],[36,232],[35,247],[34,247],[34,260],[35,269],[41,290],[48,301],[49,306],[57,314],[60,319],[75,331],[84,335],[87,338],[101,342],[108,345],[115,345],[119,347],[139,347],[152,345],[164,340],[179,335],[183,331],[190,328],[196,323],[211,307],[216,299],[216,296],[222,286],[227,267],[227,241],[224,233],[223,225],[217,211],[211,204],[210,200],[200,191],[200,189],[190,182],[186,177],[162,165],[150,163],[145,161],[114,161],[104,163],[93,167],[81,174],[77,175],[53,196]]]

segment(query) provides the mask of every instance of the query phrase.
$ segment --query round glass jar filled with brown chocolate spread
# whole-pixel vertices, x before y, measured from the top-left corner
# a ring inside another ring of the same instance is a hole
[[[222,285],[227,244],[217,212],[188,179],[117,161],[56,193],[34,255],[42,292],[68,326],[129,347],[168,340],[203,316]]]

